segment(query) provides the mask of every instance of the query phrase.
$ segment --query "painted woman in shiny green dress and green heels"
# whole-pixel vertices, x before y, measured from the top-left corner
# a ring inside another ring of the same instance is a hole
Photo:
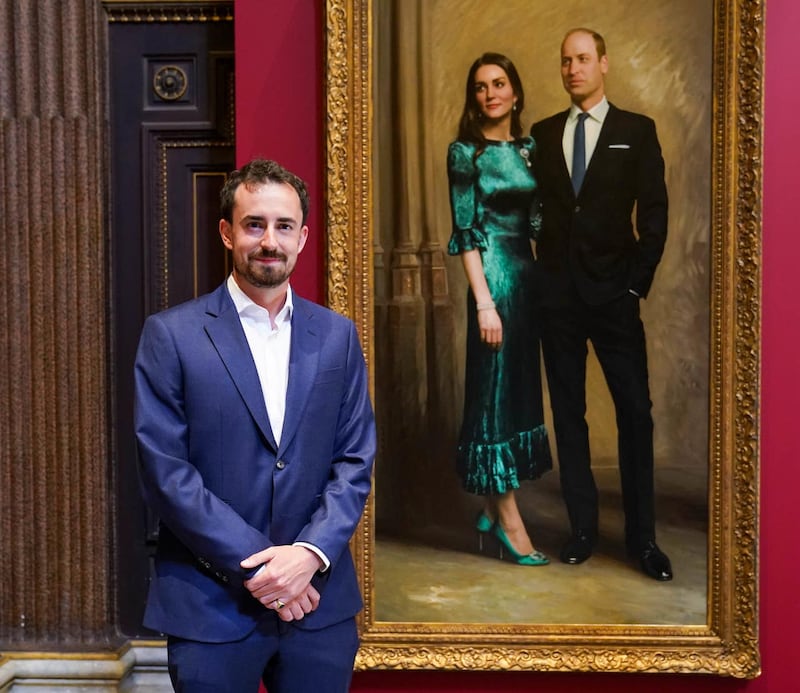
[[[537,267],[531,239],[540,224],[532,163],[522,137],[525,105],[513,63],[485,53],[467,77],[458,140],[447,171],[453,233],[469,282],[464,419],[457,468],[464,489],[486,502],[476,521],[479,545],[491,533],[520,565],[545,565],[515,497],[520,482],[552,468],[544,426]]]

